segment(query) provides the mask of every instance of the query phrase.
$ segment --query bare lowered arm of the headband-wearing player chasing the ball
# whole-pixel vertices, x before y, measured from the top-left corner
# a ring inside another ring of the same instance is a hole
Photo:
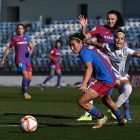
[[[87,69],[86,69],[84,80],[83,80],[82,84],[77,85],[77,87],[79,87],[79,89],[82,89],[83,92],[87,91],[87,83],[88,83],[88,81],[89,81],[89,79],[90,79],[90,77],[92,75],[92,72],[93,72],[91,62],[86,62],[85,66],[86,66]]]

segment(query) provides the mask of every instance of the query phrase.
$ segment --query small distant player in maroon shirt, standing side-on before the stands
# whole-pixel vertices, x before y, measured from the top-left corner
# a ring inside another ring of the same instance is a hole
[[[50,75],[44,80],[44,82],[41,85],[41,90],[44,90],[44,85],[46,82],[48,82],[51,78],[54,77],[55,71],[57,72],[57,89],[62,90],[60,88],[60,81],[61,81],[61,59],[60,59],[60,47],[61,43],[59,40],[56,41],[56,46],[52,49],[49,58],[51,59],[50,62]]]

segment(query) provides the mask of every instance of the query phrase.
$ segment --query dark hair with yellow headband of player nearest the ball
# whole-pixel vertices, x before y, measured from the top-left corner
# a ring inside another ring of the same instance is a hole
[[[82,33],[75,33],[73,35],[71,35],[69,37],[69,41],[75,39],[78,43],[80,43],[80,41],[83,41],[85,39],[85,35]]]

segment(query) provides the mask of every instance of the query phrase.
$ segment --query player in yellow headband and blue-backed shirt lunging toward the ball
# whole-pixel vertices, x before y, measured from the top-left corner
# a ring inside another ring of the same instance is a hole
[[[77,85],[79,89],[85,92],[78,99],[78,104],[90,114],[97,117],[97,125],[93,126],[94,129],[101,128],[107,121],[107,117],[99,112],[98,109],[93,106],[93,104],[89,103],[90,100],[96,99],[97,97],[101,97],[103,103],[116,115],[118,124],[124,125],[127,120],[123,119],[119,108],[111,99],[112,88],[115,86],[116,77],[110,65],[96,47],[83,45],[82,41],[84,38],[85,36],[80,33],[73,34],[69,37],[71,50],[75,54],[80,54],[81,60],[86,66],[84,80],[82,84]],[[97,82],[92,83],[87,90],[87,82],[89,81],[92,72],[93,76],[96,77]]]

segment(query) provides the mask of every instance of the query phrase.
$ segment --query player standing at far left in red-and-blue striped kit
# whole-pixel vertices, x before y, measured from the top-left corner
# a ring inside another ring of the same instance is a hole
[[[31,40],[28,36],[24,35],[25,27],[23,24],[17,25],[18,35],[14,36],[11,40],[9,47],[7,48],[5,55],[1,61],[1,67],[4,65],[4,60],[11,51],[12,47],[15,48],[15,63],[18,72],[22,74],[22,91],[25,99],[30,99],[31,96],[27,93],[27,89],[32,80],[32,66],[30,60],[30,54],[33,53],[34,48]],[[28,46],[30,50],[28,51]]]

